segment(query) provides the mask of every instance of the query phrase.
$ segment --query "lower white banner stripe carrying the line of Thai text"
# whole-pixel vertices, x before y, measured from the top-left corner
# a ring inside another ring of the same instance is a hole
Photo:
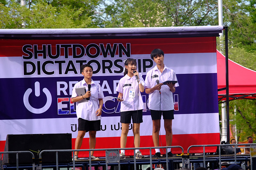
[[[174,115],[172,131],[173,135],[219,133],[219,126],[216,126],[218,123],[219,113]],[[165,135],[163,119],[161,124],[160,133]],[[77,118],[0,120],[0,141],[4,141],[7,134],[72,133],[72,138],[76,138],[77,126]],[[102,117],[101,126],[102,130],[97,132],[97,137],[121,136],[120,117]],[[145,115],[140,125],[140,136],[150,134],[151,116]],[[128,136],[133,136],[132,130],[129,130]],[[89,134],[86,133],[85,137],[88,138]]]

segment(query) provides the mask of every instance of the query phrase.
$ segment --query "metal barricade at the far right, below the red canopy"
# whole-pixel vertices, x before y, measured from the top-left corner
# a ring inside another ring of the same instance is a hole
[[[256,144],[209,144],[209,145],[191,145],[188,147],[188,155],[189,155],[189,150],[192,147],[203,147],[203,158],[204,158],[204,167],[205,167],[205,147],[212,147],[212,146],[218,146],[219,149],[219,165],[220,165],[220,169],[221,169],[221,151],[220,151],[220,147],[221,146],[234,146],[234,150],[235,150],[235,162],[236,162],[236,146],[252,146],[252,145],[256,145]],[[252,155],[250,154],[250,163],[251,163],[251,170],[252,170]],[[189,163],[189,158],[188,158],[188,168],[190,167],[190,163]]]

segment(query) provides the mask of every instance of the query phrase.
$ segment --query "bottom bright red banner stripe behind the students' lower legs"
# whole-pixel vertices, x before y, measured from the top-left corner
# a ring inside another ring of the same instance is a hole
[[[76,139],[72,139],[72,149],[75,149]],[[166,146],[165,135],[161,135],[162,146]],[[133,147],[133,137],[127,137],[126,148]],[[161,146],[161,142],[159,142]],[[204,133],[204,134],[183,134],[173,135],[172,146],[181,146],[184,153],[187,153],[188,147],[191,145],[220,144],[220,133]],[[120,137],[96,137],[96,149],[120,148]],[[152,136],[140,136],[140,147],[153,147]],[[205,152],[216,152],[217,147],[205,147]],[[89,149],[89,138],[84,138],[81,149]],[[163,151],[164,150],[164,151]],[[165,149],[161,149],[164,154]],[[149,150],[141,150],[143,155],[149,155]],[[172,153],[181,154],[180,148],[172,148]],[[203,147],[191,148],[189,153],[203,153]],[[152,150],[155,154],[155,150]],[[105,151],[95,151],[94,156],[105,157]],[[133,155],[133,151],[126,150],[125,155]],[[88,157],[89,152],[79,152],[79,157]]]

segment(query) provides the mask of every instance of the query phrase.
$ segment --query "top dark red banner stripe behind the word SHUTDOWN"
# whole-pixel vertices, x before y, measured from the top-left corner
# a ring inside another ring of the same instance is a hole
[[[52,45],[51,54],[56,55],[56,44],[81,44],[85,48],[88,44],[100,44],[106,48],[110,43],[113,48],[114,43],[123,44],[127,49],[126,43],[131,45],[131,54],[150,54],[155,48],[160,48],[165,54],[172,53],[215,53],[216,52],[216,37],[192,37],[192,38],[149,38],[149,39],[98,39],[98,40],[0,40],[0,56],[28,56],[28,52],[23,52],[22,47],[24,45],[31,45],[31,48],[26,50],[33,52],[34,45],[37,45],[37,50],[42,50],[46,45],[46,54],[48,52],[47,45]],[[119,45],[118,45],[119,46]],[[119,54],[119,50],[122,50],[116,46],[116,55]],[[72,56],[72,48],[68,48],[68,55]],[[77,54],[81,54],[81,49],[76,49]],[[96,54],[96,48],[90,48],[91,54]],[[124,52],[120,52],[124,56]],[[64,55],[64,48],[60,48],[60,55]],[[100,52],[102,55],[102,52]],[[42,56],[42,54],[38,54]],[[48,56],[48,55],[47,55]],[[49,58],[49,57],[48,57]],[[150,56],[149,56],[150,58]]]

